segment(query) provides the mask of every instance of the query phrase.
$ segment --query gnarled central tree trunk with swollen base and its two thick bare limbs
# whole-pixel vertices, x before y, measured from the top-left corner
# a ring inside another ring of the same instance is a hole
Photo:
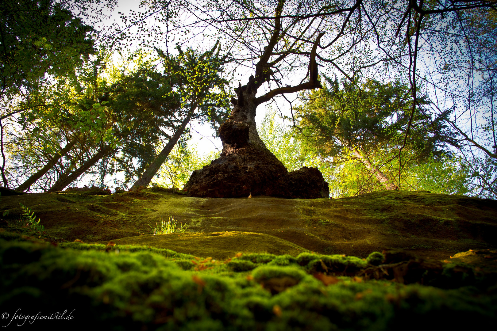
[[[247,85],[236,89],[238,99],[229,119],[219,128],[223,141],[221,156],[209,166],[195,170],[184,190],[193,197],[235,198],[265,195],[285,198],[329,198],[328,183],[317,168],[304,167],[289,173],[283,163],[271,153],[260,140],[255,125],[255,109],[278,94],[294,93],[304,89],[323,88],[318,81],[316,49],[324,32],[319,34],[309,62],[309,81],[296,86],[279,87],[255,97],[257,89],[269,81],[271,67],[285,58],[278,56],[270,62],[275,45],[284,33],[281,29],[281,8],[278,2],[274,18],[274,30],[267,47],[255,66],[255,76],[250,76]]]

